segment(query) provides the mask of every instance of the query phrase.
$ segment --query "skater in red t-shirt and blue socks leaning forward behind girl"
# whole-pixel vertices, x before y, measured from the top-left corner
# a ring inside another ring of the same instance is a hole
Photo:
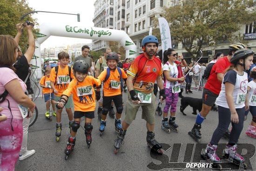
[[[245,45],[242,43],[232,44],[229,45],[229,54],[228,56],[218,59],[217,62],[212,66],[209,78],[204,85],[204,89],[202,92],[202,110],[197,114],[195,125],[192,128],[189,135],[195,139],[195,141],[199,141],[202,138],[201,134],[201,124],[203,120],[207,117],[209,111],[211,110],[212,106],[214,105],[216,98],[218,97],[221,86],[222,80],[224,77],[224,72],[227,68],[231,65],[230,60],[232,55],[239,49],[246,48]],[[224,138],[229,138],[229,131],[224,134]]]

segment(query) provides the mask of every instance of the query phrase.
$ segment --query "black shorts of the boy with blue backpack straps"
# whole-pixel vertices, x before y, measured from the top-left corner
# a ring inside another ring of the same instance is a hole
[[[105,109],[109,109],[111,107],[111,101],[114,101],[115,108],[121,107],[123,105],[123,98],[122,95],[116,95],[116,96],[103,96],[103,103],[102,107]]]

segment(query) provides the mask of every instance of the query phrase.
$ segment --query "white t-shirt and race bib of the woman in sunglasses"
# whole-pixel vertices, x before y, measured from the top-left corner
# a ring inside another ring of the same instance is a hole
[[[173,65],[171,65],[171,64],[169,64],[169,62],[166,62],[163,65],[163,71],[168,71],[170,73],[170,77],[172,77],[172,78],[178,78],[178,68],[175,63],[173,63]],[[171,88],[174,85],[175,86],[179,85],[179,82],[178,81],[170,82],[166,79],[163,84],[164,88]]]

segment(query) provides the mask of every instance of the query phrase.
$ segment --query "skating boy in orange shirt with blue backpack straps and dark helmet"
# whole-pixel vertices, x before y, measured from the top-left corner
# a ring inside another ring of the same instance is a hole
[[[108,110],[111,107],[111,101],[113,100],[116,107],[116,118],[115,118],[115,130],[119,132],[122,128],[121,126],[121,114],[123,111],[122,104],[122,89],[123,89],[123,79],[127,79],[127,75],[123,69],[118,68],[117,64],[119,57],[117,53],[108,53],[107,65],[108,68],[105,69],[99,75],[98,79],[104,81],[103,84],[103,104],[102,104],[102,116],[101,116],[101,126],[100,132],[105,130],[106,118]],[[99,92],[97,95],[100,96]]]

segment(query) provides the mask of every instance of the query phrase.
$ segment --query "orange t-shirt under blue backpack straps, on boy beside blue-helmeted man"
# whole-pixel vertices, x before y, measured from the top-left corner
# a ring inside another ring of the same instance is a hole
[[[122,72],[122,78],[126,79],[127,75],[123,69],[121,69],[121,72]],[[106,76],[107,76],[107,69],[101,72],[98,79],[100,79],[101,81],[104,81]],[[103,94],[104,96],[116,96],[121,94],[120,74],[117,69],[115,69],[115,71],[110,70],[109,78],[108,80],[106,80],[106,82],[104,82]]]

